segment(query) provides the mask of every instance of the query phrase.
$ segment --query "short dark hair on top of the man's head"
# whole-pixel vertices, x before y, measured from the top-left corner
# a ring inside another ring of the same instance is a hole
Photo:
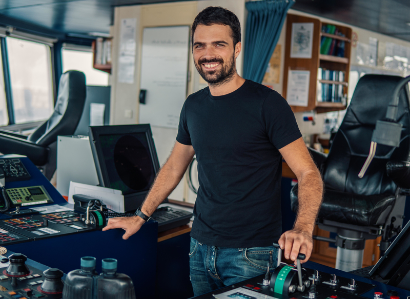
[[[202,10],[194,19],[191,28],[191,43],[194,45],[194,33],[198,25],[227,25],[231,27],[231,35],[234,41],[234,46],[240,42],[240,23],[239,19],[232,11],[223,7],[207,7]]]

